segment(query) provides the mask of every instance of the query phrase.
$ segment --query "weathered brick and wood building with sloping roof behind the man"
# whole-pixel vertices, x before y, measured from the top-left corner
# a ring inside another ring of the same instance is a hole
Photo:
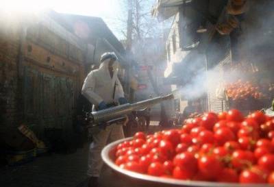
[[[99,65],[102,53],[115,51],[129,69],[123,45],[101,18],[57,12],[0,16],[1,134],[21,124],[38,137],[46,129],[73,132],[90,66]]]

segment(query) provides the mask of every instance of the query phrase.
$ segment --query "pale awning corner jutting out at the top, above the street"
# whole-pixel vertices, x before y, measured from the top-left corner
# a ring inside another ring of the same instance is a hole
[[[180,5],[188,2],[191,2],[191,0],[158,0],[151,10],[151,14],[157,17],[158,20],[166,20],[179,11]]]

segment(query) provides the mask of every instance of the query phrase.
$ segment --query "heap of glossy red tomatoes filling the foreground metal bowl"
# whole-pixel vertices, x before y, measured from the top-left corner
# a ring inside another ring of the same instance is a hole
[[[116,165],[182,180],[274,184],[274,119],[262,112],[209,112],[169,129],[116,147]]]

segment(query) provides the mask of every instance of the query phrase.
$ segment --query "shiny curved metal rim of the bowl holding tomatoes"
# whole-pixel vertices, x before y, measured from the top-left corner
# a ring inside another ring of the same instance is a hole
[[[110,143],[109,145],[105,146],[101,151],[101,158],[103,162],[110,166],[111,169],[122,173],[123,175],[127,175],[129,177],[133,177],[136,179],[145,180],[147,182],[155,182],[155,183],[163,183],[163,184],[172,184],[176,186],[200,186],[200,187],[273,187],[269,184],[238,184],[238,183],[223,183],[223,182],[197,182],[197,181],[186,181],[182,179],[169,179],[169,178],[162,178],[162,177],[153,177],[151,175],[145,175],[141,173],[136,173],[132,171],[127,171],[125,169],[121,169],[117,166],[110,158],[110,151],[114,149],[119,143],[132,140],[132,137],[124,138],[121,140],[116,140],[115,142]]]

